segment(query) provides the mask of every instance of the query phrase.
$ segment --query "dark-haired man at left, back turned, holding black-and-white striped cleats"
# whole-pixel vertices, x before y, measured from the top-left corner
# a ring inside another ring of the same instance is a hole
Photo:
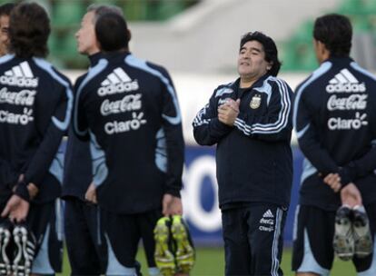
[[[7,171],[0,182],[2,199],[7,196],[0,202],[1,215],[3,221],[15,222],[13,231],[3,228],[0,235],[6,275],[61,271],[62,234],[55,210],[63,173],[58,148],[70,121],[73,96],[68,79],[45,61],[49,34],[43,7],[17,5],[9,20],[10,54],[0,58],[2,175]]]

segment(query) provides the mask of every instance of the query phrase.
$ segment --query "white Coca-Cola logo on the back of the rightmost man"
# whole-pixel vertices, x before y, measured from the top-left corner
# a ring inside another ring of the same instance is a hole
[[[367,94],[351,94],[349,97],[331,95],[328,100],[328,110],[363,110],[367,107]]]

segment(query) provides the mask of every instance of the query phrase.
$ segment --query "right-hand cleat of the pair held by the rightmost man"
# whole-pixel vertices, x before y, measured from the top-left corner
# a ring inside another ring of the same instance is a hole
[[[372,252],[372,237],[370,222],[367,213],[354,209],[353,211],[353,233],[355,242],[355,255],[358,258],[365,258]]]

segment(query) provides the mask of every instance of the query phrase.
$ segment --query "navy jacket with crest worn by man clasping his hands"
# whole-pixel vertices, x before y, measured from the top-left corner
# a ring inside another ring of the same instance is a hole
[[[269,74],[252,87],[240,79],[220,85],[194,118],[197,143],[217,145],[219,203],[269,202],[288,207],[292,187],[292,90]],[[234,126],[221,123],[218,106],[240,99]]]

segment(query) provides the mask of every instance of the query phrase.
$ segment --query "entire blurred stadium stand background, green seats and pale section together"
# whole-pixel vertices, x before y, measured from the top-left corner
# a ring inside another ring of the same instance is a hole
[[[0,3],[7,1],[0,0]],[[376,69],[375,0],[36,0],[52,18],[50,60],[59,67],[82,69],[74,34],[88,5],[113,4],[124,10],[133,31],[134,54],[179,72],[230,73],[240,36],[260,30],[279,44],[283,71],[317,67],[312,51],[313,18],[348,15],[354,25],[351,55]]]

